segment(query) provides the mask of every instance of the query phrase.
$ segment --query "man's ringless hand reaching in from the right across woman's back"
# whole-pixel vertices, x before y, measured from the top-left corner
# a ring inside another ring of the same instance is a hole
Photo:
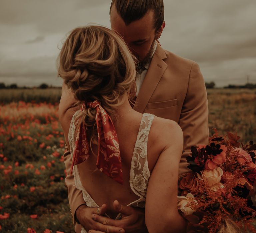
[[[122,214],[120,220],[114,220],[98,214],[93,214],[95,221],[106,226],[123,228],[125,233],[148,233],[145,224],[145,210],[121,205],[117,200],[113,202],[114,209]],[[100,231],[90,230],[90,233],[101,233]]]

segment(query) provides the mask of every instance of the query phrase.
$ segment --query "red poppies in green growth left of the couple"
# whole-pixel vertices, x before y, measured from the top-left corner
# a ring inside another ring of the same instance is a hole
[[[2,232],[74,232],[58,104],[2,105],[0,142]]]

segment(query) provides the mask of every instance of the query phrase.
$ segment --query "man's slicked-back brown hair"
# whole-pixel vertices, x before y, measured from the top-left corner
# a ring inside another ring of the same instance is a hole
[[[164,22],[163,0],[112,0],[110,12],[113,5],[126,25],[143,18],[149,10],[154,12],[154,28],[156,31]]]

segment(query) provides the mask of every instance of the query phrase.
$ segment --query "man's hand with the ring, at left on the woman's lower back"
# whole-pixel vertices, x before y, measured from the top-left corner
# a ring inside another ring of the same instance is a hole
[[[99,211],[98,211],[99,210]],[[90,233],[124,233],[124,229],[114,225],[102,224],[95,221],[92,216],[104,215],[107,211],[107,205],[103,204],[98,207],[87,207],[86,205],[80,205],[76,210],[76,218],[80,224]],[[115,220],[118,221],[118,220]]]

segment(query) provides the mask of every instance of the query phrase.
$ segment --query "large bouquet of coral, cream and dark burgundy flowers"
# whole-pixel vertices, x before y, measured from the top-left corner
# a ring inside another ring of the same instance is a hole
[[[191,147],[192,172],[180,179],[178,196],[187,232],[256,232],[256,144],[240,147],[239,138],[215,129],[209,145]]]

